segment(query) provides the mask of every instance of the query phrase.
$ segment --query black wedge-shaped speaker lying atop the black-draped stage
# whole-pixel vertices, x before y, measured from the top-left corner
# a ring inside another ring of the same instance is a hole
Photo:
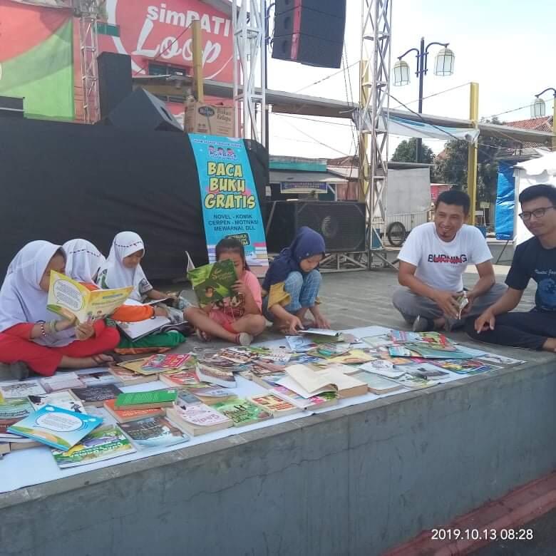
[[[140,87],[110,112],[105,123],[117,128],[143,131],[183,131],[165,103]]]

